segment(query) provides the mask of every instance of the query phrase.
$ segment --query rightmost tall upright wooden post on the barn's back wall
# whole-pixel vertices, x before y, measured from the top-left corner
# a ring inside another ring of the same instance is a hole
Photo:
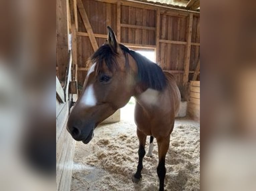
[[[188,71],[189,71],[189,62],[190,62],[190,49],[191,49],[191,34],[192,34],[192,23],[193,14],[189,14],[189,22],[187,28],[187,44],[186,44],[186,53],[185,53],[185,63],[184,63],[184,74],[182,80],[182,86],[185,88],[188,82]]]

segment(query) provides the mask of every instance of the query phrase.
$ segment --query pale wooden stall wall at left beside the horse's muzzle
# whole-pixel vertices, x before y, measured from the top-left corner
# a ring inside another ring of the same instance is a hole
[[[69,191],[71,186],[75,140],[67,131],[67,120],[70,111],[69,85],[71,80],[72,59],[69,55],[66,64],[67,76],[64,88],[56,77],[56,190]]]

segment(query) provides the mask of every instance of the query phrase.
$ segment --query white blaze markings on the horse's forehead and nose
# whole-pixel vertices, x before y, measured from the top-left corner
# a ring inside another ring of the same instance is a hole
[[[87,77],[94,72],[95,69],[95,63],[92,65],[92,67],[90,68],[90,70],[87,73]],[[93,89],[93,84],[90,84],[86,89],[84,94],[81,97],[81,101],[83,104],[87,105],[87,106],[95,106],[97,103],[95,94],[94,94],[94,89]]]

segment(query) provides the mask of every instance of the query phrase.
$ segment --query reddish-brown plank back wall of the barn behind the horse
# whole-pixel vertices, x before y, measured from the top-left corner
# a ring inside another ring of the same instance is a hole
[[[172,73],[180,90],[192,79],[200,54],[200,14],[117,0],[74,0],[77,18],[77,79],[82,88],[87,59],[111,26],[119,42],[155,51],[157,64]],[[82,4],[82,6],[81,6]],[[82,11],[81,7],[85,10]],[[88,23],[85,23],[85,14]],[[88,31],[88,30],[89,31]],[[92,31],[92,34],[90,34]],[[95,39],[95,40],[94,40]],[[93,45],[96,41],[96,45]]]

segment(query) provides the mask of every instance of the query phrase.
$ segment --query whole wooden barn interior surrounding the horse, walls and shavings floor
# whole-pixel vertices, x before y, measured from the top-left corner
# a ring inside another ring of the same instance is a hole
[[[88,145],[66,130],[87,60],[105,43],[107,26],[119,43],[174,76],[181,106],[166,155],[165,189],[200,190],[200,1],[56,0],[57,190],[158,190],[156,142],[153,157],[144,158],[142,181],[131,181],[138,160],[134,98],[95,129]]]

